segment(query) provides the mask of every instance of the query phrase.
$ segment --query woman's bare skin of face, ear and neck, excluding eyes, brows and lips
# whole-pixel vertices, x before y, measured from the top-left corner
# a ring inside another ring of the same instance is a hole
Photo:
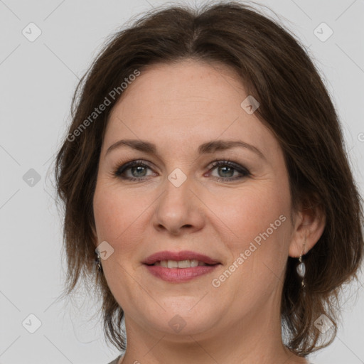
[[[308,363],[282,344],[279,307],[287,257],[311,249],[325,219],[315,210],[291,210],[282,149],[256,114],[242,109],[246,97],[234,70],[183,60],[143,70],[112,109],[93,203],[95,245],[107,241],[114,249],[102,267],[124,309],[124,364]],[[106,153],[119,139],[150,141],[158,155],[129,146]],[[244,141],[264,158],[247,148],[198,156],[200,144],[216,139]],[[142,181],[114,175],[139,159],[151,167],[129,168],[124,176]],[[212,167],[216,159],[251,175]],[[179,187],[168,180],[175,168],[186,175]],[[281,215],[284,223],[213,287],[212,280]],[[193,250],[221,265],[189,282],[164,282],[141,263],[161,250]],[[178,333],[168,325],[176,314],[186,323]]]

